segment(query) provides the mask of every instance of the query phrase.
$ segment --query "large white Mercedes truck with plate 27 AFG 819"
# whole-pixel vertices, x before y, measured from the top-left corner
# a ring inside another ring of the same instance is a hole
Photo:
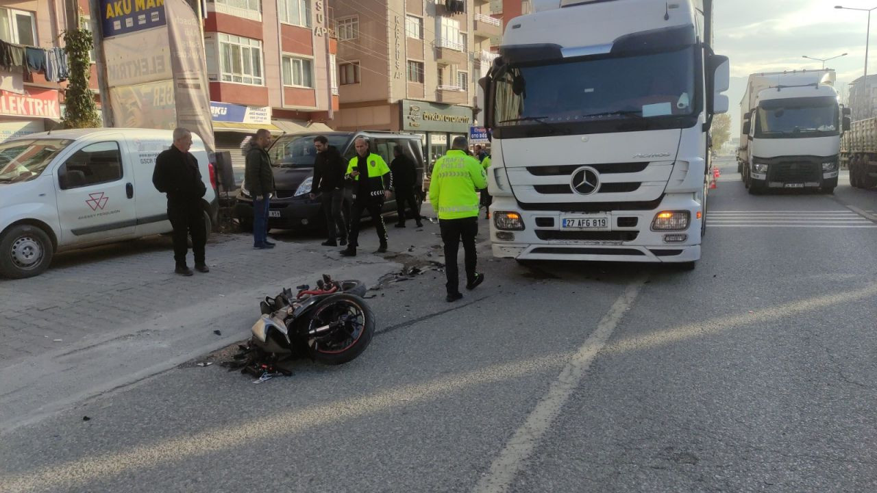
[[[701,257],[709,126],[728,110],[712,0],[536,0],[488,76],[496,257]]]

